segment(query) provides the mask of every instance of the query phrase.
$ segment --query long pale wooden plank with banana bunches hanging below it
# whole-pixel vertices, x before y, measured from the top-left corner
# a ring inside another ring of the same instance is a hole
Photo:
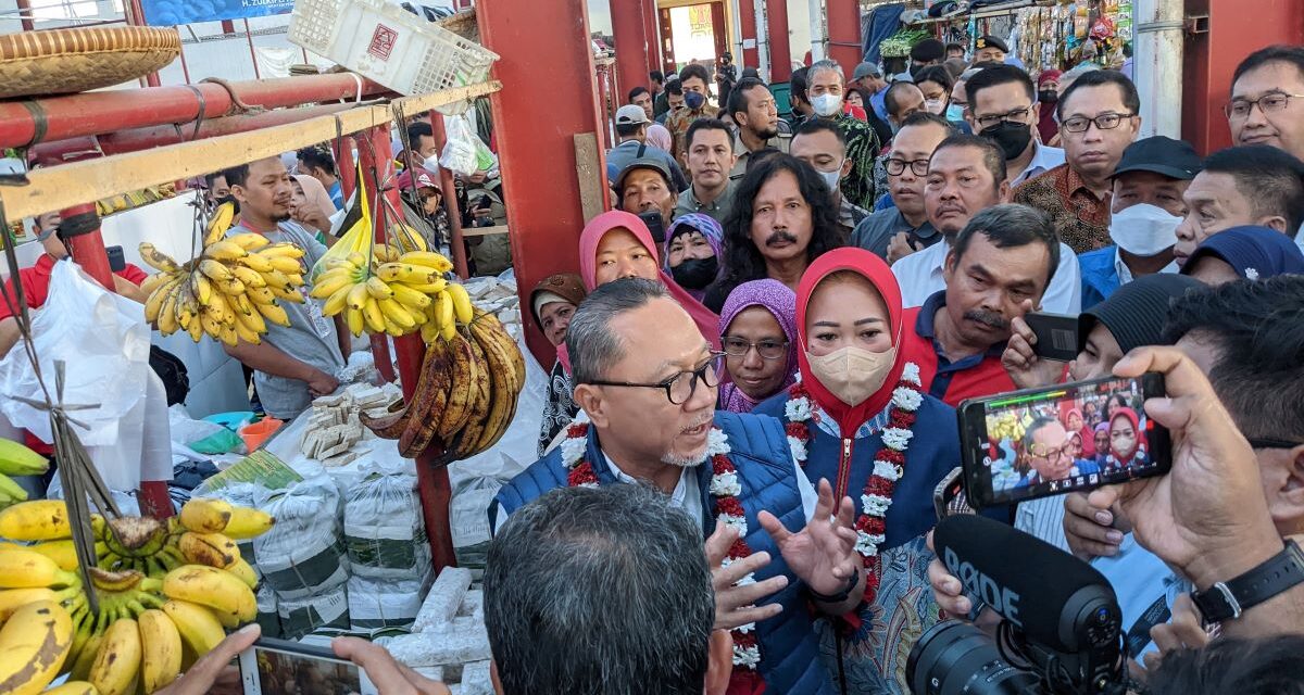
[[[407,96],[395,103],[404,104],[404,113],[419,113],[499,89],[502,85],[498,82],[485,82]],[[40,168],[27,175],[31,183],[26,186],[0,188],[0,201],[4,201],[4,211],[9,219],[35,216],[119,193],[202,176],[256,159],[279,156],[282,153],[334,140],[336,134],[352,134],[383,125],[391,119],[390,106],[364,106],[335,116],[319,116],[262,130]]]

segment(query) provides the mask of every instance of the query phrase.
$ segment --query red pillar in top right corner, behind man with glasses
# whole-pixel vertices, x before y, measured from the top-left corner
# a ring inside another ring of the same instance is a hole
[[[1253,12],[1247,12],[1253,5]],[[1204,154],[1232,145],[1223,106],[1231,76],[1249,53],[1304,43],[1304,3],[1187,0],[1187,16],[1208,16],[1208,31],[1188,34],[1181,76],[1181,136]],[[1217,29],[1217,31],[1215,31]]]

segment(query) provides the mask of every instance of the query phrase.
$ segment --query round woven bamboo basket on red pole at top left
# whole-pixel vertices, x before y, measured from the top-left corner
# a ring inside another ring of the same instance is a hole
[[[176,29],[115,26],[0,37],[0,99],[108,87],[163,68],[181,52]]]

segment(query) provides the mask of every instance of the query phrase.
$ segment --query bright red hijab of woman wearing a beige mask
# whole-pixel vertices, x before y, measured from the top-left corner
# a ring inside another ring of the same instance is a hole
[[[810,361],[806,359],[806,306],[810,305],[811,293],[819,283],[840,270],[850,270],[865,276],[883,296],[883,303],[888,306],[888,334],[892,336],[892,346],[897,348],[896,364],[883,379],[883,386],[878,392],[855,406],[842,403],[816,381],[811,376]],[[835,249],[816,258],[802,275],[802,282],[797,287],[797,335],[801,342],[797,351],[797,364],[801,369],[802,385],[815,399],[815,403],[837,420],[838,430],[844,437],[846,433],[854,436],[866,420],[882,412],[892,400],[892,391],[901,381],[901,372],[905,369],[905,359],[901,355],[901,288],[897,286],[892,270],[878,256],[854,246]]]

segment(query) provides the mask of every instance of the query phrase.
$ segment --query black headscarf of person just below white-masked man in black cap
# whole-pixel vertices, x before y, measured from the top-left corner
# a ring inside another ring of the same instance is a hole
[[[1170,344],[1163,340],[1168,308],[1188,289],[1201,287],[1200,280],[1172,273],[1142,275],[1119,287],[1110,299],[1077,316],[1077,351],[1082,352],[1097,322],[1104,323],[1123,353],[1141,346]]]

